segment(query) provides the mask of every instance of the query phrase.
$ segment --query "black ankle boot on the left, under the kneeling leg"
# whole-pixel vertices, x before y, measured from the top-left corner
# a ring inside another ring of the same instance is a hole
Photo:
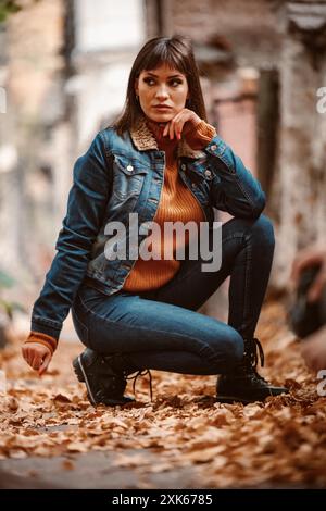
[[[125,397],[127,375],[138,371],[121,354],[101,356],[87,348],[73,361],[79,382],[85,382],[91,404],[126,404],[135,399]]]

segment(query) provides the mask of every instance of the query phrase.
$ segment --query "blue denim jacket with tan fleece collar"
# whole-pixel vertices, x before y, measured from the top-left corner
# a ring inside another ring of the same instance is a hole
[[[208,222],[213,208],[233,216],[255,219],[265,195],[251,173],[217,135],[208,146],[192,150],[178,144],[179,176],[199,201]],[[109,260],[104,247],[109,222],[120,221],[129,236],[129,213],[139,225],[153,220],[164,182],[165,153],[145,119],[120,137],[113,128],[100,132],[74,166],[67,211],[55,244],[58,251],[32,313],[32,329],[59,338],[83,283],[105,295],[122,289],[136,260]],[[139,237],[139,244],[141,237]]]

